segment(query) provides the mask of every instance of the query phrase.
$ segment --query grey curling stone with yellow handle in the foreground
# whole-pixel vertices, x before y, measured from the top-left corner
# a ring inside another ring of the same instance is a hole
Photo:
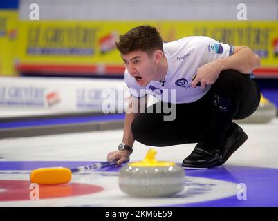
[[[124,193],[142,198],[167,197],[183,191],[185,171],[174,162],[159,162],[150,149],[142,162],[120,169],[119,186]]]

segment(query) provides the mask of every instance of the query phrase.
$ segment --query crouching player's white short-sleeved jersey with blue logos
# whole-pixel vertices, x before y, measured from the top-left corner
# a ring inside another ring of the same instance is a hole
[[[163,50],[168,63],[164,81],[151,81],[147,86],[139,86],[136,79],[125,70],[124,80],[134,97],[149,93],[163,102],[196,102],[210,90],[210,86],[206,86],[204,90],[199,86],[192,88],[192,77],[197,69],[215,59],[232,55],[234,47],[210,37],[192,36],[165,43]],[[170,100],[171,89],[173,93],[176,91],[176,98]]]

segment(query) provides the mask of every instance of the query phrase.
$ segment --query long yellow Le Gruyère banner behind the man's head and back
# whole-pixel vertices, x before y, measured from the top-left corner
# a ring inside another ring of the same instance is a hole
[[[249,46],[263,66],[278,67],[278,22],[187,21],[26,21],[20,22],[21,64],[122,64],[114,42],[135,26],[156,26],[164,41],[206,35],[223,43]]]

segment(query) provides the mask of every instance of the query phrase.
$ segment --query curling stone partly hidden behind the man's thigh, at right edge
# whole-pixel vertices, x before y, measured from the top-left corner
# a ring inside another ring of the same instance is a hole
[[[261,101],[257,110],[249,117],[246,117],[245,119],[239,121],[236,120],[234,122],[246,124],[264,124],[270,122],[272,119],[275,119],[276,115],[277,109],[275,104],[270,102],[261,94]]]

